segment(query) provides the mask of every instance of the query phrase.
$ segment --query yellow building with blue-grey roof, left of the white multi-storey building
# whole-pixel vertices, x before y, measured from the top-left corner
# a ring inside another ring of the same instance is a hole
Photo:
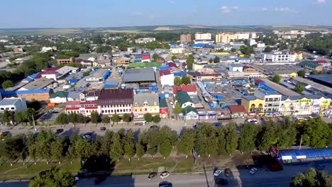
[[[256,96],[243,96],[241,105],[245,107],[249,116],[264,115],[264,100]]]

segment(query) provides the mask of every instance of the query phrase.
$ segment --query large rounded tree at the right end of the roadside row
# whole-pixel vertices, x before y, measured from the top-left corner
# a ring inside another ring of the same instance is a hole
[[[314,148],[326,147],[331,133],[331,128],[321,118],[307,120],[304,123],[304,144]]]

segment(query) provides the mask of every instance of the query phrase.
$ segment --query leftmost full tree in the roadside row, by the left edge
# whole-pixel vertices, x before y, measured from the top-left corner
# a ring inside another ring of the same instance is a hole
[[[13,161],[18,159],[23,152],[24,144],[23,144],[23,136],[17,135],[14,137],[8,137],[4,141],[4,153],[3,156],[11,162],[13,165]]]

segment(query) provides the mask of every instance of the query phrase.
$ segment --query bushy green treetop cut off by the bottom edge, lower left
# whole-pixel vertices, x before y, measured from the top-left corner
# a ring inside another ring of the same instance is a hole
[[[35,176],[29,183],[29,187],[40,186],[75,186],[74,176],[69,171],[48,170],[45,174]]]

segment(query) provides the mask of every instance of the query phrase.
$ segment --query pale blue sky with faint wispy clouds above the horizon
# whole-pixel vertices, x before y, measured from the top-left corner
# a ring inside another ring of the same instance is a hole
[[[332,26],[332,0],[3,0],[0,28]]]

